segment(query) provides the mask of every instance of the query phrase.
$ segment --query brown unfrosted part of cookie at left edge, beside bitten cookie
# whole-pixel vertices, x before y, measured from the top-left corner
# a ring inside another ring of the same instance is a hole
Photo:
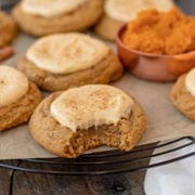
[[[29,82],[29,89],[23,98],[8,106],[0,107],[0,131],[28,121],[41,100],[42,94],[37,86]]]

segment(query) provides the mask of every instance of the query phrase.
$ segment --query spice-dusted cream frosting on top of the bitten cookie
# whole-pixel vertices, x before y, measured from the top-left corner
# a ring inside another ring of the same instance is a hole
[[[123,91],[106,84],[89,84],[63,92],[50,107],[51,115],[72,131],[117,125],[127,118],[133,101]]]

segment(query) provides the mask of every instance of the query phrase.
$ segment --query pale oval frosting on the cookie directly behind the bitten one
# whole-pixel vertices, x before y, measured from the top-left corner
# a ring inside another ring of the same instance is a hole
[[[88,35],[56,34],[37,40],[28,49],[26,57],[50,73],[69,74],[94,66],[108,51],[104,42]]]

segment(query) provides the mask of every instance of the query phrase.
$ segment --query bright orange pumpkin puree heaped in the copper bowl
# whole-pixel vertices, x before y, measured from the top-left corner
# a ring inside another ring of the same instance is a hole
[[[121,37],[130,49],[154,54],[181,54],[195,50],[195,17],[178,9],[139,13]]]

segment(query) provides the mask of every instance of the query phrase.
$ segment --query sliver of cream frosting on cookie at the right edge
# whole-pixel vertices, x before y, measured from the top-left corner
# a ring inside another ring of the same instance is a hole
[[[186,90],[195,96],[195,68],[191,69],[185,77]]]

